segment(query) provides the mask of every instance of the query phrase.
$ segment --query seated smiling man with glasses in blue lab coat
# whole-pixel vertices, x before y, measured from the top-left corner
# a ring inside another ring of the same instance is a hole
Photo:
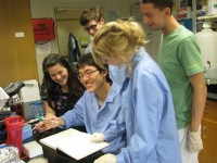
[[[105,65],[104,65],[105,66]],[[75,104],[74,109],[64,115],[50,120],[41,121],[35,126],[39,131],[44,131],[58,126],[85,125],[87,133],[103,133],[107,128],[107,122],[115,121],[120,112],[119,87],[112,84],[106,68],[101,68],[95,64],[91,54],[84,55],[78,62],[78,78],[87,88],[84,96]],[[105,66],[106,67],[106,66]],[[118,153],[122,147],[125,147],[125,136],[119,136],[110,142],[111,146],[103,149],[103,153]]]

